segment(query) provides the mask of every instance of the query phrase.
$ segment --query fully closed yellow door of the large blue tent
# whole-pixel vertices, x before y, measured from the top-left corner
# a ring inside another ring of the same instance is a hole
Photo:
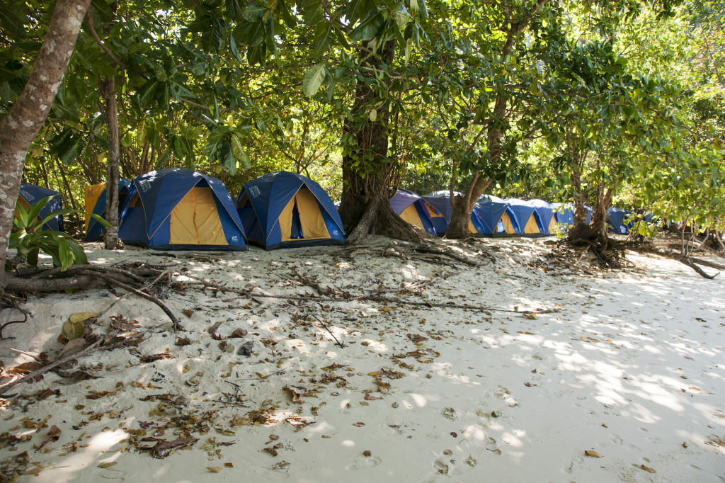
[[[192,188],[171,211],[169,244],[226,245],[211,188]]]

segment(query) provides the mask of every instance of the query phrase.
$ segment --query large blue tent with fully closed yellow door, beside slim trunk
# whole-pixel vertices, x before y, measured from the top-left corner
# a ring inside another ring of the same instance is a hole
[[[181,168],[133,178],[118,237],[154,249],[247,249],[224,184]]]

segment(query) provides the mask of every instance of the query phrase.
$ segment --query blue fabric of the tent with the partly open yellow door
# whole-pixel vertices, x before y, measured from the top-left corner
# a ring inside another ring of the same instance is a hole
[[[328,239],[305,239],[299,210],[293,210],[291,238],[282,239],[280,215],[299,189],[306,187],[317,199],[320,214],[327,228]],[[236,201],[236,210],[244,224],[248,241],[254,241],[265,249],[307,247],[329,244],[345,244],[342,220],[332,199],[315,181],[305,176],[279,171],[244,184]]]

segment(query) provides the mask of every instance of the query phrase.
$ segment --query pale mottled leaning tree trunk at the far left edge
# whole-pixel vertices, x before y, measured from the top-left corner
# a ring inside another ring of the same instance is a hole
[[[90,0],[58,0],[28,83],[0,120],[0,269],[28,148],[48,117]],[[4,274],[4,270],[0,273]],[[0,281],[0,286],[4,284]]]

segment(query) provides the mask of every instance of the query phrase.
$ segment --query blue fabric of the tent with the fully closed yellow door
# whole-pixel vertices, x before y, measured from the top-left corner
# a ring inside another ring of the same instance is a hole
[[[196,187],[208,187],[212,190],[227,244],[170,243],[171,212]],[[137,197],[138,202],[135,201]],[[247,249],[241,220],[224,184],[212,176],[183,168],[151,171],[133,178],[123,205],[118,236],[124,243],[140,244],[154,249]]]

